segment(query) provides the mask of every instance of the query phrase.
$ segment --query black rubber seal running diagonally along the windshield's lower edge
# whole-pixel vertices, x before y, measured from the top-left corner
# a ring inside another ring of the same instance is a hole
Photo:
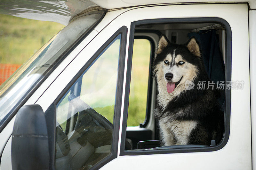
[[[100,10],[100,11],[92,11],[88,12],[88,14],[93,13],[99,13],[101,14],[101,17],[98,21],[96,21],[93,25],[89,27],[87,31],[85,31],[74,43],[72,43],[67,50],[65,50],[54,62],[54,65],[50,70],[44,75],[44,77],[37,81],[35,86],[33,86],[30,90],[28,90],[28,93],[26,93],[23,97],[23,99],[20,100],[19,104],[15,106],[15,109],[12,109],[7,115],[6,118],[4,117],[3,123],[0,125],[0,133],[3,131],[4,127],[12,120],[12,118],[16,115],[18,110],[27,102],[27,100],[34,94],[34,92],[43,84],[43,82],[49,77],[50,74],[60,65],[60,63],[78,46],[87,35],[89,35],[92,30],[100,23],[100,21],[104,18],[106,11]]]

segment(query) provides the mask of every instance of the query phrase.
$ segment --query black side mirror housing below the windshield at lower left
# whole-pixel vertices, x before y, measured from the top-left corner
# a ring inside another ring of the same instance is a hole
[[[49,168],[49,144],[44,111],[38,104],[20,108],[12,131],[12,169]]]

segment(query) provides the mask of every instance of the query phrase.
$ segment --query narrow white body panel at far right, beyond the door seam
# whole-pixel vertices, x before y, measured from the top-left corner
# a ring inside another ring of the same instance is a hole
[[[256,170],[256,11],[249,11],[251,119],[252,119],[252,168]]]

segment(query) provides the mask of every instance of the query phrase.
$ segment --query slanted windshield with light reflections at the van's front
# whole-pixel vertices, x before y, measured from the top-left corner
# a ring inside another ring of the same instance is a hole
[[[92,11],[70,22],[0,86],[0,125],[104,13]]]

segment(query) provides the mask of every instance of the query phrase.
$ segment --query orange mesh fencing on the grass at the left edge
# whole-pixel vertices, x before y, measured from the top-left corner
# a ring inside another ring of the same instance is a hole
[[[1,64],[0,63],[0,85],[14,73],[21,64]]]

